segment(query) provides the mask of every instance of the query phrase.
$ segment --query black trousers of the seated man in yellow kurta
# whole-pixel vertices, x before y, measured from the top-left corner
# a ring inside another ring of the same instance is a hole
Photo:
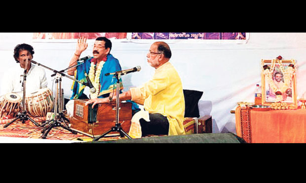
[[[140,126],[142,136],[146,135],[168,135],[169,133],[169,122],[167,117],[162,116],[161,114],[154,113],[150,114],[150,122],[140,119]]]

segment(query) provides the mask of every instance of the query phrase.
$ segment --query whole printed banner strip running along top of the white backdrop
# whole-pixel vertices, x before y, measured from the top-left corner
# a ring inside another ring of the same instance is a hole
[[[117,41],[150,43],[152,40],[168,42],[194,40],[210,40],[205,42],[246,43],[247,32],[35,32],[33,41],[36,42],[74,42],[80,36],[94,41],[97,37],[107,37]],[[198,41],[197,41],[198,40]]]

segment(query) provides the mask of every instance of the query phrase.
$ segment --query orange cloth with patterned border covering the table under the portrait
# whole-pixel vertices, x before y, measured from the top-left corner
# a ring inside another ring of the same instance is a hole
[[[236,133],[249,143],[306,143],[306,110],[235,109]]]

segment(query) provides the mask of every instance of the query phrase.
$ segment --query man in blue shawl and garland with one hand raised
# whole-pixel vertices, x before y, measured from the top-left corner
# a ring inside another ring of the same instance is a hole
[[[80,55],[88,47],[86,38],[80,37],[77,39],[76,51],[72,57],[69,65],[76,65]],[[98,37],[93,47],[93,57],[84,61],[84,63],[77,67],[68,69],[68,75],[75,76],[76,80],[85,82],[85,73],[88,75],[91,83],[93,84],[96,92],[89,93],[90,98],[105,98],[109,97],[111,92],[115,92],[116,80],[113,79],[112,75],[105,76],[106,73],[112,73],[121,70],[119,61],[110,54],[112,50],[112,42],[106,37]],[[86,86],[79,84],[78,82],[73,83],[72,90],[73,94],[70,99],[88,99],[87,95],[83,93]],[[122,80],[119,81],[120,90],[123,89]],[[140,110],[138,105],[132,102],[133,112]]]

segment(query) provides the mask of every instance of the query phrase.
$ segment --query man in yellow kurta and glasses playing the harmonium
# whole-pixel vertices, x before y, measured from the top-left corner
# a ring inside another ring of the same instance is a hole
[[[154,42],[147,54],[148,63],[155,68],[153,78],[141,87],[131,88],[119,95],[119,99],[132,100],[144,105],[145,111],[132,118],[129,135],[140,138],[148,134],[182,135],[185,114],[185,99],[181,78],[168,62],[171,50],[165,42]],[[113,96],[115,100],[115,96]],[[108,98],[94,98],[85,105],[108,103]]]

